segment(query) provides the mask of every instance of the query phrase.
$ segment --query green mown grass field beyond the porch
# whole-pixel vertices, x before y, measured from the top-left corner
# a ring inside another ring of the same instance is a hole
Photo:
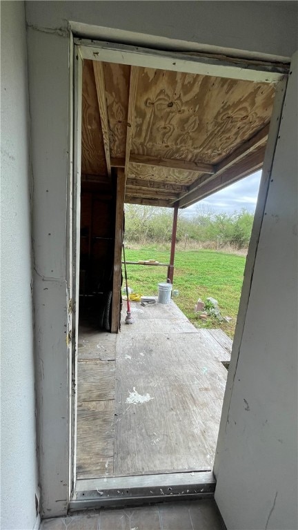
[[[155,247],[126,249],[127,261],[156,259],[168,263],[170,253]],[[235,324],[243,283],[246,257],[216,251],[177,251],[173,288],[179,291],[175,303],[198,328],[221,328],[230,337]],[[128,265],[128,285],[135,293],[157,295],[159,282],[166,281],[166,267]],[[204,322],[195,314],[198,298],[212,296],[219,302],[221,315],[232,317],[230,322],[219,322],[215,317]]]

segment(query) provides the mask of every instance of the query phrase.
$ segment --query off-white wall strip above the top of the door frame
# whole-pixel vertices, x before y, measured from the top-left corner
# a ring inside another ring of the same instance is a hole
[[[27,13],[30,25],[39,28],[66,29],[74,21],[90,37],[163,48],[216,52],[221,47],[277,57],[291,57],[297,49],[298,6],[291,1],[37,1],[27,2]]]

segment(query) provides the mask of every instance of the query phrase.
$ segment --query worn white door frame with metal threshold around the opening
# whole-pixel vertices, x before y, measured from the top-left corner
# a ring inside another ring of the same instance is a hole
[[[223,412],[217,452],[215,456],[214,473],[217,475],[217,455],[220,453],[223,442],[223,431],[228,417],[228,406],[232,392],[232,383],[237,368],[239,355],[239,341],[244,328],[246,309],[250,295],[250,284],[252,281],[253,268],[259,242],[261,222],[264,216],[268,186],[270,183],[270,172],[275,153],[275,145],[279,131],[281,111],[284,104],[288,67],[268,63],[265,61],[250,61],[247,59],[235,59],[218,56],[192,54],[186,52],[164,52],[139,46],[128,46],[124,44],[107,43],[106,41],[94,41],[88,39],[74,38],[74,145],[73,145],[73,208],[72,208],[72,237],[73,237],[73,310],[72,310],[72,400],[70,412],[70,476],[72,493],[70,495],[70,511],[78,511],[84,508],[97,508],[103,506],[119,506],[123,504],[144,504],[146,502],[157,502],[172,500],[174,498],[201,498],[213,496],[215,489],[215,476],[212,471],[195,473],[194,480],[184,476],[188,473],[168,473],[168,491],[163,492],[161,477],[165,475],[144,475],[142,477],[128,478],[105,478],[104,490],[103,479],[83,480],[83,488],[77,487],[75,479],[76,463],[76,414],[77,414],[77,342],[78,342],[78,315],[79,315],[79,222],[80,222],[80,186],[81,186],[81,91],[82,91],[82,66],[83,59],[92,61],[108,61],[113,63],[128,64],[132,66],[143,66],[148,68],[160,68],[200,75],[214,75],[232,79],[245,79],[277,84],[277,95],[270,122],[268,143],[259,188],[259,198],[252,227],[252,237],[248,250],[246,262],[244,286],[241,291],[241,302],[239,306],[239,318],[235,333],[235,342],[232,347],[231,363],[228,373],[228,382],[224,397]],[[237,337],[237,340],[236,340]],[[176,475],[179,475],[177,477]],[[190,475],[190,473],[189,473]],[[164,480],[164,479],[163,479]],[[162,493],[160,493],[162,491]]]

